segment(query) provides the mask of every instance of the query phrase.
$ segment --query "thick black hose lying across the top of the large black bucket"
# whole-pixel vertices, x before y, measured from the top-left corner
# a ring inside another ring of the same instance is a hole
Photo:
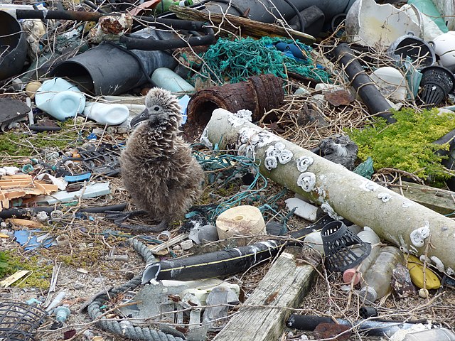
[[[190,46],[210,45],[215,41],[215,36],[212,28],[204,27],[205,36],[191,37],[188,40],[171,39],[171,40],[156,40],[153,38],[132,38],[124,35],[120,37],[120,43],[124,44],[129,50],[171,50],[175,48],[185,48]]]

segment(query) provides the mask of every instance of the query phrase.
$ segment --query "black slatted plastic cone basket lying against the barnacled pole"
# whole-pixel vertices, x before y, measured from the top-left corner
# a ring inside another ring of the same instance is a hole
[[[371,251],[371,245],[350,232],[341,221],[329,222],[321,230],[321,237],[329,271],[342,272],[360,264]],[[352,251],[355,247],[358,254]]]

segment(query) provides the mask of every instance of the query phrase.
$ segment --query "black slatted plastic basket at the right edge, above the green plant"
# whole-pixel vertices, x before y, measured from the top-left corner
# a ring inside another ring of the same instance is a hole
[[[455,89],[454,74],[441,66],[424,67],[420,81],[419,99],[425,107],[436,107]]]

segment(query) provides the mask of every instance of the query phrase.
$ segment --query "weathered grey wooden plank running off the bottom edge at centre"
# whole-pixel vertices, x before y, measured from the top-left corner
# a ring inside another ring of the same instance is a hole
[[[279,340],[291,313],[287,308],[301,305],[314,274],[313,266],[298,264],[296,256],[285,250],[214,340]]]

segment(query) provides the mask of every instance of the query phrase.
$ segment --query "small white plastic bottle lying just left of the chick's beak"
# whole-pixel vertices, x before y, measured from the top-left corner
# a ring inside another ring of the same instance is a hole
[[[85,117],[100,124],[116,126],[129,117],[129,109],[124,104],[87,103],[83,112]]]

